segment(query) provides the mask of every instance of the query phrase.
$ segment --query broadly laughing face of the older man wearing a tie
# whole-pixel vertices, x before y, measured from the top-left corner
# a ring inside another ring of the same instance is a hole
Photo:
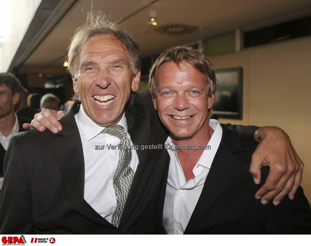
[[[81,48],[74,91],[84,111],[97,125],[114,126],[120,121],[131,90],[139,88],[140,72],[133,75],[126,46],[114,36],[89,38]]]

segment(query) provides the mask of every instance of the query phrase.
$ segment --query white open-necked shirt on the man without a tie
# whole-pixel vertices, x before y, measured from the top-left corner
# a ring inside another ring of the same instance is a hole
[[[163,225],[168,234],[183,234],[201,195],[222,136],[222,128],[218,121],[210,120],[209,125],[214,130],[207,144],[211,149],[203,151],[192,171],[194,179],[188,182],[171,138],[166,140],[165,144],[172,146],[171,149],[167,148],[170,163],[163,211]]]

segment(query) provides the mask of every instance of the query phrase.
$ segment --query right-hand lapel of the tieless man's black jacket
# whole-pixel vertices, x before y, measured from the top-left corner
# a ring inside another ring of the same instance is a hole
[[[191,234],[191,229],[207,214],[239,170],[243,161],[233,154],[239,151],[243,151],[239,138],[223,128],[220,145],[184,234]]]

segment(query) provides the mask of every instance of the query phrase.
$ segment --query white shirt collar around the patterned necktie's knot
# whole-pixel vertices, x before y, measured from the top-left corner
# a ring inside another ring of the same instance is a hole
[[[94,121],[91,120],[89,116],[86,115],[82,103],[79,112],[77,112],[77,120],[79,121],[81,130],[87,141],[100,134],[100,132],[105,128],[103,126],[97,125]],[[117,124],[121,125],[125,132],[128,133],[128,124],[126,122],[125,113],[123,113],[121,120]]]

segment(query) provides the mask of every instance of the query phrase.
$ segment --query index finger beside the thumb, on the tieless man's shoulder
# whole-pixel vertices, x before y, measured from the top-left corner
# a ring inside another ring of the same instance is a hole
[[[281,178],[282,178],[283,182],[284,181],[287,182],[290,177],[289,177],[289,175],[287,175],[287,176],[285,175],[286,171],[287,171],[287,168],[284,165],[284,163],[283,163],[283,165],[281,165],[281,164],[277,165],[277,167],[276,166],[271,167],[269,170],[269,175],[266,179],[266,182],[256,192],[255,198],[260,199],[260,198],[262,198],[262,196],[266,195],[268,192],[274,191],[276,189],[278,183],[279,183],[279,180],[281,180]],[[282,177],[282,176],[284,176],[284,177]],[[284,185],[286,182],[284,182]],[[281,190],[279,192],[281,192]]]

